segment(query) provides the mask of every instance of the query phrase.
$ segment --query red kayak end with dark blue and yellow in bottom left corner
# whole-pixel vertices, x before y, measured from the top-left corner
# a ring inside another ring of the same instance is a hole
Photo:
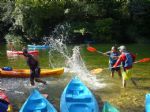
[[[0,89],[0,112],[12,112],[12,105],[5,93]]]

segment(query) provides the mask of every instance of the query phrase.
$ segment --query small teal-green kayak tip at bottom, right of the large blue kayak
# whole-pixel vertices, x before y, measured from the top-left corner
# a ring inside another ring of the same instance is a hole
[[[116,107],[112,106],[110,103],[105,102],[102,112],[119,112],[119,110]]]

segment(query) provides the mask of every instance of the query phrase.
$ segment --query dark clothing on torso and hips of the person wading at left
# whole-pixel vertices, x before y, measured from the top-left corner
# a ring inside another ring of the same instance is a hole
[[[40,67],[38,61],[30,54],[27,56],[27,64],[30,67],[31,76],[34,79],[40,77]]]

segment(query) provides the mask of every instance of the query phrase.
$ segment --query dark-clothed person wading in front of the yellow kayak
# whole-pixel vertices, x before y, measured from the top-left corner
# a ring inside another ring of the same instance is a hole
[[[40,82],[43,84],[46,84],[46,81],[43,81],[40,79],[40,67],[39,62],[35,57],[33,57],[31,54],[28,53],[28,50],[26,48],[23,48],[23,55],[26,57],[27,64],[30,68],[30,83],[32,86],[35,85],[34,80],[36,82]]]

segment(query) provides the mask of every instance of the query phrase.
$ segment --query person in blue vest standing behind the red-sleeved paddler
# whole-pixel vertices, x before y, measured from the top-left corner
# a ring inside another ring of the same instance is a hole
[[[111,51],[108,51],[108,52],[104,53],[104,55],[109,56],[109,68],[111,70],[111,77],[113,78],[114,77],[114,72],[117,71],[119,77],[121,78],[120,67],[113,68],[114,64],[116,63],[116,61],[117,61],[117,59],[120,55],[120,53],[117,52],[117,47],[113,46],[111,48]]]

